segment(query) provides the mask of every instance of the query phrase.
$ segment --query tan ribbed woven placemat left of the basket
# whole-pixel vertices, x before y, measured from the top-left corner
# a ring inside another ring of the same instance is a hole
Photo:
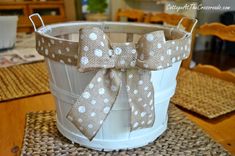
[[[44,62],[0,68],[0,102],[49,92]]]

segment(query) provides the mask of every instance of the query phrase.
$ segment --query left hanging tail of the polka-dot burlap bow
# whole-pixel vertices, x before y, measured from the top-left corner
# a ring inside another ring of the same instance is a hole
[[[89,140],[99,131],[118,96],[121,80],[114,69],[99,70],[67,114]]]

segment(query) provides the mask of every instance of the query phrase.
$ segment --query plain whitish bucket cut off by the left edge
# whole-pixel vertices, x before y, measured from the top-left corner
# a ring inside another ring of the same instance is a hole
[[[17,16],[0,16],[0,50],[15,45],[17,21]]]

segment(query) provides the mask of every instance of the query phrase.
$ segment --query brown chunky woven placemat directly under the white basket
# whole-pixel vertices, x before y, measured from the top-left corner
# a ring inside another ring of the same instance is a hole
[[[169,110],[167,131],[155,142],[132,150],[95,151],[63,137],[56,128],[55,112],[27,114],[22,155],[229,155],[189,121],[174,105]]]

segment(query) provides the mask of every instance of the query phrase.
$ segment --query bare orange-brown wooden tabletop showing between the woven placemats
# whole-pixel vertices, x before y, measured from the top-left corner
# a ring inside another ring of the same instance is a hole
[[[38,95],[0,103],[0,156],[19,155],[22,146],[27,112],[55,110],[51,94]],[[213,139],[235,155],[235,112],[207,120],[183,111]]]

